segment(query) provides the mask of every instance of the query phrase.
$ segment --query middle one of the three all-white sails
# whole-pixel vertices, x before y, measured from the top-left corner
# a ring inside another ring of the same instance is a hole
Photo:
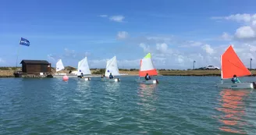
[[[77,76],[80,76],[81,73],[83,73],[84,75],[91,74],[91,71],[90,71],[90,68],[89,68],[88,62],[87,62],[87,57],[85,57],[84,59],[80,60],[80,62],[78,62]]]

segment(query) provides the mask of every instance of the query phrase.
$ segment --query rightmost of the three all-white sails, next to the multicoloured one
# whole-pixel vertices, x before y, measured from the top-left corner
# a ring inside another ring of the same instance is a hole
[[[105,69],[105,76],[109,76],[112,73],[113,76],[120,76],[119,69],[117,66],[116,56],[107,61],[107,66]]]

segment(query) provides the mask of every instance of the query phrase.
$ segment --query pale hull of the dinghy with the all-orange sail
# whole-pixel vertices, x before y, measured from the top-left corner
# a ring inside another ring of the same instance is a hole
[[[237,88],[237,89],[253,89],[254,83],[218,83],[217,87]]]

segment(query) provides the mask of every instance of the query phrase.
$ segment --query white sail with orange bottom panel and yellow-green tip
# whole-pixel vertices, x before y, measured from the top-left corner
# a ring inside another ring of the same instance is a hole
[[[144,57],[144,59],[140,60],[140,71],[139,71],[139,76],[146,76],[146,74],[150,76],[157,76],[158,72],[155,69],[152,59],[151,59],[151,53],[148,53]]]

